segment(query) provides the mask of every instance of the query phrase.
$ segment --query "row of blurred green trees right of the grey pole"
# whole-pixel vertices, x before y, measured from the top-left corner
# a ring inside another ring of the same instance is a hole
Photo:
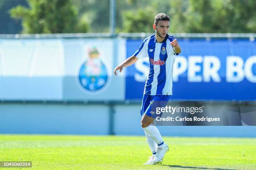
[[[120,1],[118,1],[121,4]],[[255,32],[256,0],[126,0],[118,32],[152,32],[154,15],[170,16],[169,32]]]

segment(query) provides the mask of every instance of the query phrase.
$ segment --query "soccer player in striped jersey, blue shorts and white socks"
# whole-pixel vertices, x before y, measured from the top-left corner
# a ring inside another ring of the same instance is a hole
[[[142,106],[141,127],[145,131],[146,139],[153,155],[143,165],[154,165],[161,163],[169,147],[161,137],[159,130],[153,125],[154,117],[150,113],[153,101],[168,101],[172,95],[172,70],[175,55],[181,52],[177,39],[167,34],[170,26],[170,18],[164,13],[155,16],[153,29],[155,35],[147,37],[133,54],[122,64],[115,67],[120,72],[123,67],[128,67],[138,59],[148,57],[150,70],[146,80]]]

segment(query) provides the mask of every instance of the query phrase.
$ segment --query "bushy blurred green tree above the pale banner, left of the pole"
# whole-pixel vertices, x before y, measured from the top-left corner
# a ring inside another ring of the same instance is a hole
[[[21,19],[23,33],[87,32],[88,25],[78,19],[77,10],[70,0],[28,0],[28,7],[10,10],[11,17]]]

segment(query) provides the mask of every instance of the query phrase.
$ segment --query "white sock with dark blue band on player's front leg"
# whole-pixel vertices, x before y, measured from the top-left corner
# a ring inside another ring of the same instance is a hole
[[[159,130],[154,125],[149,125],[146,128],[143,128],[148,135],[155,141],[159,148],[163,148],[166,146],[164,140],[159,132]]]

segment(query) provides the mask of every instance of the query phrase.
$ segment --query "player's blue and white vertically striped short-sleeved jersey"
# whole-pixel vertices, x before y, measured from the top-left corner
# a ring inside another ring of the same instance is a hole
[[[158,43],[156,36],[152,35],[147,37],[134,53],[137,58],[148,57],[154,61],[164,61],[164,65],[153,65],[150,63],[150,70],[148,78],[146,80],[144,94],[148,95],[172,95],[172,72],[173,64],[175,61],[175,55],[172,42],[176,39],[173,36],[166,35],[163,42]],[[161,50],[165,48],[165,54],[161,53]]]

